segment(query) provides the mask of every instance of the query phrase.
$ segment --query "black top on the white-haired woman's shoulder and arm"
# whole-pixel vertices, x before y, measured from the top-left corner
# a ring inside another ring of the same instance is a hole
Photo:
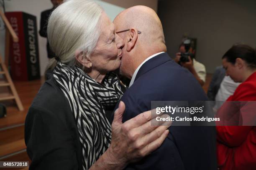
[[[82,170],[77,124],[51,74],[28,110],[25,143],[30,170]]]

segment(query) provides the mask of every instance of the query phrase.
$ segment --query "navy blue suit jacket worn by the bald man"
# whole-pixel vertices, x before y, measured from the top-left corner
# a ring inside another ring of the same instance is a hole
[[[195,77],[164,52],[146,61],[120,99],[123,122],[151,110],[151,101],[208,100]],[[118,105],[117,105],[118,106]],[[216,170],[215,127],[171,126],[164,143],[127,169]]]

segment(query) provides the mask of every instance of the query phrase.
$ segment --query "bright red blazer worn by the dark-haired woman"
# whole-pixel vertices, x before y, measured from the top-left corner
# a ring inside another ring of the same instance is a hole
[[[256,72],[227,101],[256,101]],[[256,107],[255,114],[256,116]],[[256,127],[216,126],[220,170],[256,170]]]

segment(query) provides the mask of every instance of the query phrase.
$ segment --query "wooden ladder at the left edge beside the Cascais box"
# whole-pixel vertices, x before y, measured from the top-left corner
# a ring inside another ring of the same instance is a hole
[[[9,71],[6,66],[9,65],[9,49],[10,49],[10,35],[13,38],[13,42],[18,42],[19,38],[15,34],[12,26],[10,25],[9,21],[5,17],[4,13],[0,11],[0,16],[3,19],[5,23],[5,63],[3,62],[2,56],[0,55],[0,75],[3,75],[3,77],[6,80],[0,81],[0,87],[9,87],[10,92],[1,92],[0,93],[0,101],[2,100],[15,100],[18,109],[20,111],[23,111],[23,105],[20,101],[20,97],[18,96],[17,90],[15,89],[15,86],[13,84],[13,80],[10,77]],[[9,90],[8,90],[9,91]]]

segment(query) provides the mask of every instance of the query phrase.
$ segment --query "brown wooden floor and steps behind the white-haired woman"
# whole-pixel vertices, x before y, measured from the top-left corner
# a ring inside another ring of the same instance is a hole
[[[211,77],[212,74],[207,74],[203,86],[205,92],[207,92]],[[27,82],[14,81],[20,100],[23,103],[23,111],[19,111],[12,100],[1,102],[7,106],[7,117],[0,118],[0,161],[30,161],[26,154],[24,142],[24,122],[28,108],[43,82],[44,78]],[[27,170],[28,168],[13,169]],[[8,168],[8,170],[11,169]]]

